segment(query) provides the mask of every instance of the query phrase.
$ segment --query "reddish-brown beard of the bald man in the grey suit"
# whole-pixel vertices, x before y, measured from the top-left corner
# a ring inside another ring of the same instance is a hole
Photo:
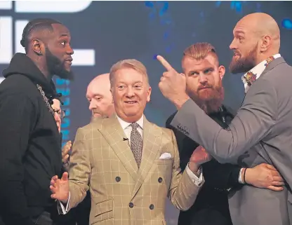
[[[232,74],[246,73],[247,71],[253,69],[255,67],[255,53],[258,48],[258,44],[256,44],[255,48],[251,50],[246,57],[239,56],[238,60],[234,60],[232,57],[232,61],[230,62],[230,72]],[[235,50],[235,53],[236,50]]]

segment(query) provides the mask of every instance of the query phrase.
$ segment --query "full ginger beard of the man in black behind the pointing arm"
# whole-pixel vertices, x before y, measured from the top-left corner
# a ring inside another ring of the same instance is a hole
[[[194,102],[196,102],[196,104],[202,110],[204,110],[206,114],[211,114],[215,111],[218,111],[218,109],[222,106],[222,102],[224,100],[224,88],[222,86],[222,83],[218,87],[210,88],[210,90],[208,90],[207,97],[200,96],[199,91],[197,93],[187,91],[187,95],[189,95],[190,98]]]

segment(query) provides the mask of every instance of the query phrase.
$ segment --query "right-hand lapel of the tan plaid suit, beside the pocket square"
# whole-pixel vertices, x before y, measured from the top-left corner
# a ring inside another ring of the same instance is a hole
[[[131,193],[131,199],[135,196],[140,186],[145,181],[150,168],[152,167],[159,149],[161,147],[162,131],[153,123],[147,121],[144,116],[143,123],[143,147],[142,147],[142,160],[138,170],[137,180],[135,187]]]

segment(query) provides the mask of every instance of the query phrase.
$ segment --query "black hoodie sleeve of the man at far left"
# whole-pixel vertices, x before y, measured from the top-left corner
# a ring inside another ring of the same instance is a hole
[[[32,224],[23,186],[22,159],[34,128],[35,111],[34,104],[24,95],[9,95],[1,99],[0,201],[6,225]]]

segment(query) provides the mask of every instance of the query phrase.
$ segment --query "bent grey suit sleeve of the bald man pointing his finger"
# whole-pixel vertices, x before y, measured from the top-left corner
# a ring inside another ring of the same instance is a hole
[[[192,100],[185,102],[171,125],[198,142],[220,163],[234,161],[267,136],[277,120],[277,93],[260,79],[248,90],[242,107],[226,130]]]

